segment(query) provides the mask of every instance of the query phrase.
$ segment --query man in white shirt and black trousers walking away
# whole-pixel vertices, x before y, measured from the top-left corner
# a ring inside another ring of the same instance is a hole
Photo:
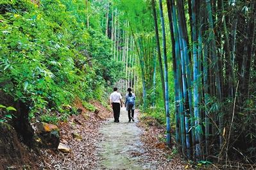
[[[121,94],[117,92],[117,88],[114,88],[114,92],[111,93],[109,99],[114,112],[114,122],[118,123],[120,116],[120,105],[123,107],[123,102]]]

